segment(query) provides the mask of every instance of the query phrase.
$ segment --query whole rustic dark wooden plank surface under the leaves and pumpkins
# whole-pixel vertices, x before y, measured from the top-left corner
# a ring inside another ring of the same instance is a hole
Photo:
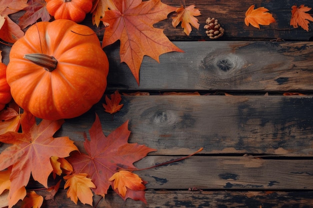
[[[313,208],[313,24],[308,32],[289,25],[294,3],[313,7],[310,0],[187,1],[201,11],[199,30],[192,28],[186,36],[180,25],[171,26],[170,18],[155,24],[184,53],[163,54],[160,63],[144,57],[139,86],[120,63],[119,43],[104,48],[110,64],[106,94],[118,89],[150,95],[122,96],[124,106],[113,116],[103,111],[103,96],[84,115],[67,119],[55,136],[69,136],[83,151],[83,132],[96,112],[105,135],[129,120],[129,142],[157,149],[137,162],[138,168],[204,149],[187,160],[137,172],[148,182],[147,205],[124,202],[110,191],[105,199],[94,197],[94,205],[100,200],[97,208]],[[251,4],[268,8],[276,23],[261,29],[245,26],[244,14]],[[225,29],[222,38],[212,41],[205,36],[207,17],[219,20]],[[95,31],[102,28],[90,20],[88,15],[83,24]],[[101,39],[103,31],[97,34]],[[281,39],[285,41],[271,41]],[[0,45],[0,50],[7,63],[10,47]],[[172,91],[200,96],[163,95]],[[304,95],[283,96],[284,92]],[[0,151],[5,147],[1,145]],[[40,188],[34,182],[28,186]],[[75,205],[66,190],[60,190],[43,207],[90,206]]]

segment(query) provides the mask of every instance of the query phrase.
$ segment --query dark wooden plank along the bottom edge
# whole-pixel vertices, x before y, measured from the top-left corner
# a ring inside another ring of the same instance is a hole
[[[44,191],[36,193],[45,195]],[[311,208],[313,192],[262,192],[262,191],[158,191],[147,190],[147,205],[141,201],[123,201],[117,194],[108,192],[105,199],[94,197],[97,208]],[[18,203],[14,208],[20,207]],[[66,198],[66,190],[59,190],[54,200],[44,201],[44,208],[90,208],[80,202],[75,205]]]

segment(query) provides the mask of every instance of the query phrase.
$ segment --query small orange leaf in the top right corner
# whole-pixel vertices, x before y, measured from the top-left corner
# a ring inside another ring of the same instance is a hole
[[[297,28],[298,25],[300,25],[304,30],[308,31],[308,20],[313,21],[313,17],[305,12],[311,10],[311,8],[304,6],[304,4],[299,7],[293,5],[291,8],[290,25],[292,25],[293,28]]]

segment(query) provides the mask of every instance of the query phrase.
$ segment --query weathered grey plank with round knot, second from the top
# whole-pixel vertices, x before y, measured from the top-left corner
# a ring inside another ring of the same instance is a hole
[[[105,48],[109,89],[127,90],[312,90],[312,42],[174,42],[184,53],[144,57],[140,86],[120,63],[118,45]]]

